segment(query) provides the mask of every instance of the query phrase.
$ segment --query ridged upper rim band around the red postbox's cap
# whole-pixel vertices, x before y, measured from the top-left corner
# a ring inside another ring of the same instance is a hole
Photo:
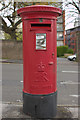
[[[18,15],[28,12],[52,12],[58,14],[58,16],[62,14],[62,10],[60,8],[48,5],[32,5],[17,10]]]

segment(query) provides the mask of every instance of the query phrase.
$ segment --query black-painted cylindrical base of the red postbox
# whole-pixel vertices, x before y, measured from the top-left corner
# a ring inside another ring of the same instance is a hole
[[[23,112],[33,118],[53,118],[57,111],[57,92],[32,95],[23,92]]]

